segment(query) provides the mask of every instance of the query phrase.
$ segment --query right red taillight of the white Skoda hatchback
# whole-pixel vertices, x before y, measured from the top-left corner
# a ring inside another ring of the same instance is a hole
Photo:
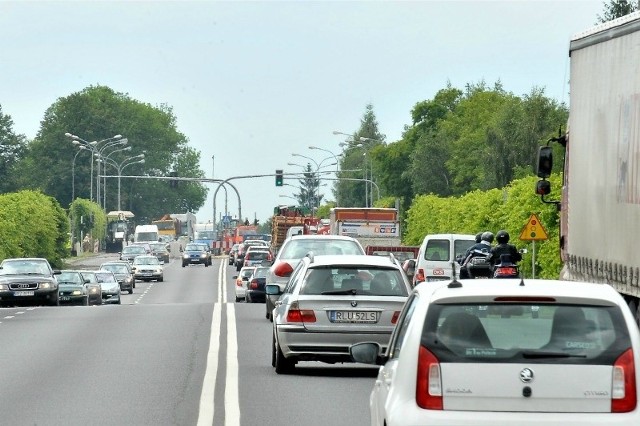
[[[633,350],[627,349],[616,359],[611,374],[611,412],[628,413],[637,405],[636,367]]]

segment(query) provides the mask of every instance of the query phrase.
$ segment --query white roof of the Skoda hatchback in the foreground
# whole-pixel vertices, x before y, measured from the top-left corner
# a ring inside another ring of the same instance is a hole
[[[459,287],[450,286],[453,281],[423,282],[415,289],[424,294],[431,302],[456,303],[469,297],[484,298],[488,301],[495,297],[543,298],[549,297],[555,303],[583,303],[596,305],[620,305],[624,300],[613,287],[605,284],[587,282],[542,280],[542,279],[481,279],[459,280]],[[552,301],[552,300],[550,300]]]

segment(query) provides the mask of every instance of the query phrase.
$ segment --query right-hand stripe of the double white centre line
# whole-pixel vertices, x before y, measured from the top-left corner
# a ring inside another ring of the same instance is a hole
[[[240,426],[238,335],[236,307],[233,303],[227,303],[227,377],[224,384],[224,424],[225,426]]]

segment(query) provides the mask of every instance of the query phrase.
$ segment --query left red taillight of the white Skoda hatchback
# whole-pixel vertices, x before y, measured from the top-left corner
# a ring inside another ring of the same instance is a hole
[[[424,346],[418,352],[416,404],[426,410],[442,410],[442,380],[438,358]]]

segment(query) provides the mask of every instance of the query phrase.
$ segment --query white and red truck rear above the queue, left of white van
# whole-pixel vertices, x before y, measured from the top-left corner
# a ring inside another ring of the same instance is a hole
[[[399,246],[398,210],[379,207],[334,207],[329,217],[330,233],[357,239],[362,247]]]

